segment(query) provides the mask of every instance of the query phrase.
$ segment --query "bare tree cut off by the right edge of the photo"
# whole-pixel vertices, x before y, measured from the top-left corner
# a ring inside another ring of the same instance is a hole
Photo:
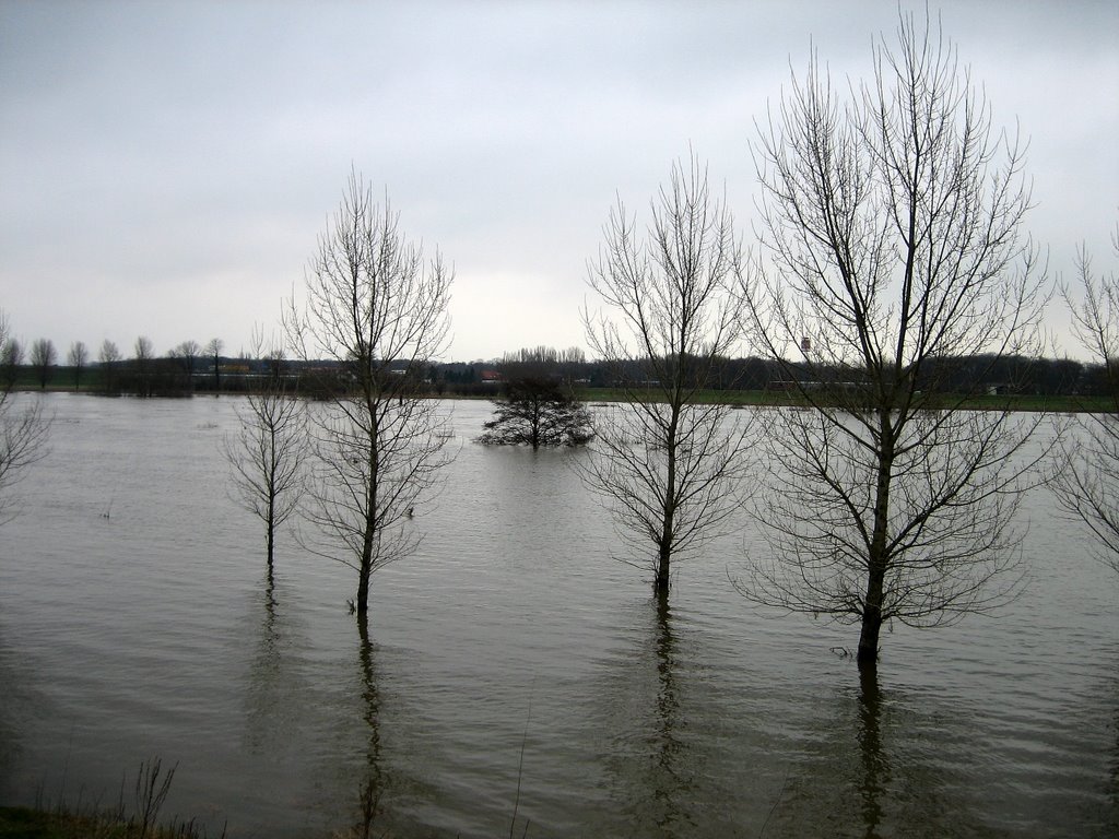
[[[1119,226],[1111,247],[1119,256]],[[1082,298],[1068,286],[1062,296],[1075,338],[1102,368],[1107,404],[1073,418],[1075,427],[1062,439],[1053,489],[1061,507],[1096,536],[1100,558],[1119,571],[1119,274],[1097,275],[1087,247],[1078,254],[1076,273]]]

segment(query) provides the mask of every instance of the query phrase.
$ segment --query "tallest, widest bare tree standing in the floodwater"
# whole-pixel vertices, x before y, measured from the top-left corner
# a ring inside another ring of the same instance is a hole
[[[761,128],[768,262],[740,286],[755,340],[810,408],[767,415],[755,510],[773,558],[740,588],[861,622],[861,666],[884,623],[944,623],[1013,595],[1014,513],[1036,465],[1022,447],[1041,420],[967,408],[984,365],[1040,355],[1049,296],[1019,234],[1021,147],[991,130],[928,20],[903,15],[897,36],[878,39],[873,81],[849,96],[814,57]],[[961,359],[974,384],[947,393]]]

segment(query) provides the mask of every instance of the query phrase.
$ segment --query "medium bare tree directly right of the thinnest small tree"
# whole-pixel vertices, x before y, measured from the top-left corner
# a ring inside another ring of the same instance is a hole
[[[285,311],[293,351],[333,361],[318,385],[328,400],[310,417],[307,516],[322,539],[305,544],[357,572],[361,620],[372,574],[419,544],[407,519],[448,461],[445,417],[421,384],[446,343],[451,280],[439,253],[425,263],[388,199],[375,202],[355,172],[319,238],[303,305],[292,299]]]

